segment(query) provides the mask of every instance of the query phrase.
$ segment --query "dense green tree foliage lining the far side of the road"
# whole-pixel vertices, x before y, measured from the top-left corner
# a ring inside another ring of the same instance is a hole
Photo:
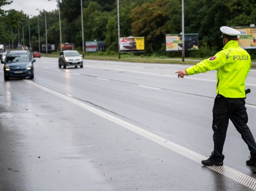
[[[47,1],[46,1],[47,2]],[[11,0],[0,0],[0,43],[20,41],[24,23],[25,44],[28,45],[28,16],[24,13],[1,7]],[[105,40],[107,51],[100,55],[116,55],[118,50],[117,0],[83,0],[84,39]],[[256,24],[256,2],[254,0],[186,0],[184,4],[185,33],[199,33],[198,51],[186,52],[186,56],[210,57],[223,47],[219,38],[222,25],[249,26]],[[75,43],[82,51],[82,24],[80,0],[61,0],[62,43]],[[146,53],[142,56],[180,57],[180,52],[165,51],[165,35],[180,33],[180,0],[119,0],[120,36],[144,36]],[[46,13],[48,43],[59,45],[58,10]],[[38,26],[40,43],[45,44],[45,12],[30,18],[30,33],[33,49],[38,49]],[[13,29],[13,35],[10,31]],[[256,58],[256,51],[248,51]],[[126,57],[130,55],[125,55]]]

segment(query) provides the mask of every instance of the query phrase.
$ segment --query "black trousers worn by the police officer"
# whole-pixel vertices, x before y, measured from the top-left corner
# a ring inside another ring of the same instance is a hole
[[[245,98],[225,98],[222,95],[217,95],[214,100],[212,122],[214,150],[211,155],[222,160],[224,159],[222,151],[229,119],[247,144],[250,155],[256,157],[256,143],[247,126],[248,116]]]

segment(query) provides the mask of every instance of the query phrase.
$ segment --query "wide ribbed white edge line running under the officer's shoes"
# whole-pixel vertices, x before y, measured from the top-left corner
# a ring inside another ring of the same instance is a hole
[[[130,124],[124,120],[121,120],[115,116],[109,115],[108,113],[105,113],[103,111],[100,111],[99,109],[96,109],[94,107],[91,107],[87,104],[84,104],[78,100],[75,100],[73,98],[70,98],[68,96],[62,95],[56,91],[53,91],[51,89],[48,89],[42,85],[36,84],[33,81],[30,80],[24,80],[25,82],[27,82],[28,84],[31,84],[35,87],[38,87],[39,89],[42,89],[52,95],[58,96],[59,98],[62,98],[63,100],[66,100],[72,104],[75,104],[76,106],[82,107],[83,109],[86,109],[87,111],[90,111],[98,116],[101,116],[115,124],[118,124],[119,126],[122,126],[126,129],[129,129],[130,131],[133,131],[134,133],[137,133],[138,135],[144,136],[145,138],[148,138],[149,140],[160,144],[163,147],[166,147],[167,149],[170,149],[171,151],[174,151],[182,156],[185,156],[186,158],[189,158],[197,163],[201,163],[202,160],[206,160],[207,157],[200,155],[194,151],[191,151],[189,149],[187,149],[186,147],[180,146],[178,144],[175,144],[174,142],[171,142],[165,138],[162,138],[158,135],[155,135],[153,133],[150,133],[149,131],[146,131],[140,127],[137,127],[133,124]],[[209,169],[218,172],[244,186],[247,186],[251,189],[256,190],[256,179],[252,178],[251,176],[245,175],[235,169],[232,169],[228,166],[209,166]],[[239,181],[237,180],[237,178],[239,178]],[[250,180],[250,181],[248,181]]]

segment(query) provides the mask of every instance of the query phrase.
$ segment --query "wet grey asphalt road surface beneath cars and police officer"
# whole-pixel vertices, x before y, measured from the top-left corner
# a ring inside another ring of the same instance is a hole
[[[187,66],[84,60],[58,69],[57,58],[36,60],[34,80],[0,73],[0,191],[252,190],[121,125],[208,157],[215,71],[178,79]],[[255,69],[247,84],[256,136]],[[231,122],[223,153],[224,165],[256,178]]]

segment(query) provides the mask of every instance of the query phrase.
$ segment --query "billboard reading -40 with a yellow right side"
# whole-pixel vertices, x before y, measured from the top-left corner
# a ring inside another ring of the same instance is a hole
[[[144,51],[144,37],[121,37],[120,41],[121,51]]]

